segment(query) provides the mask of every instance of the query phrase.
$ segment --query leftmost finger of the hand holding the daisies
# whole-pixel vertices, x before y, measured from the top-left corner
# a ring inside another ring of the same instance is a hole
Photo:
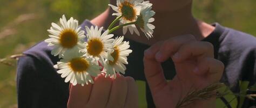
[[[90,98],[91,88],[91,84],[84,86],[81,86],[79,84],[73,86],[72,84],[70,84],[68,107],[85,107],[86,103]]]

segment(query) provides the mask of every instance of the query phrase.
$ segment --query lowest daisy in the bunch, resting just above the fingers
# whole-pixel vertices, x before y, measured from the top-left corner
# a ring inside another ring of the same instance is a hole
[[[70,52],[71,53],[71,52]],[[91,76],[96,77],[100,73],[100,66],[91,63],[92,58],[84,57],[82,52],[75,52],[64,56],[53,67],[59,69],[57,73],[65,78],[65,82],[73,85],[94,83]]]

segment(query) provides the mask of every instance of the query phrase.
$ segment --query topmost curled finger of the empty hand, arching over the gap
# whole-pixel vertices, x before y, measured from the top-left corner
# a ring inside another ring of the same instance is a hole
[[[177,36],[166,40],[161,45],[161,48],[156,55],[157,61],[164,62],[165,60],[169,59],[171,55],[177,52],[181,45],[191,41],[196,41],[192,35]]]

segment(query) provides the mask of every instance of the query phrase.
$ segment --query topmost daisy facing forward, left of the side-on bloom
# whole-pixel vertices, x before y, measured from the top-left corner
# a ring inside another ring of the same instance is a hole
[[[120,25],[135,22],[137,20],[137,16],[140,14],[140,10],[142,9],[143,0],[117,0],[117,6],[109,4],[111,8],[116,11],[112,15],[120,17]],[[127,29],[133,34],[133,31],[139,35],[139,31],[137,30],[134,24],[127,25],[123,27],[123,33],[127,32]]]

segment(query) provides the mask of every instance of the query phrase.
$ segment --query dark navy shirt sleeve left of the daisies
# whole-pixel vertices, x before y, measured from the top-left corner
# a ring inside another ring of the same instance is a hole
[[[26,55],[18,60],[19,108],[66,107],[69,83],[65,83],[53,66],[43,60],[32,55]]]

